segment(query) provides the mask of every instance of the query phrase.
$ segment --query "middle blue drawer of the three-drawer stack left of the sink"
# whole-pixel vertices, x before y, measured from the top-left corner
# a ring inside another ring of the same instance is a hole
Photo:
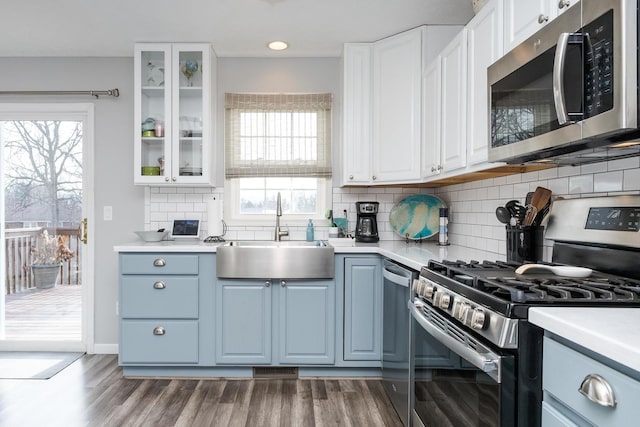
[[[120,288],[123,318],[198,318],[198,278],[124,276]]]

